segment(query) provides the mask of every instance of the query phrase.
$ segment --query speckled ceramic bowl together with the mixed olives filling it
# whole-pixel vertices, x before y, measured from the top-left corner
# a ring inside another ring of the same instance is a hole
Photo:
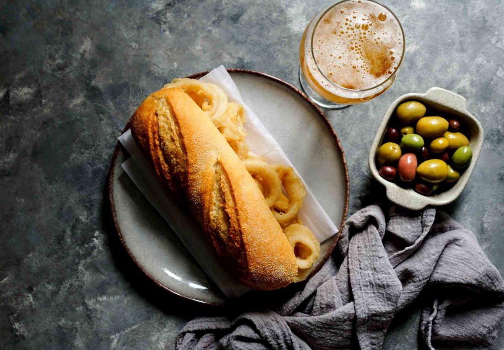
[[[390,201],[420,210],[461,194],[483,144],[483,129],[466,105],[438,87],[392,103],[369,151],[371,173]]]

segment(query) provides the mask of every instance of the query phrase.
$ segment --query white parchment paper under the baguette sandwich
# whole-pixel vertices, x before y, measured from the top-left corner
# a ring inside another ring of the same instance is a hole
[[[246,143],[252,152],[263,156],[268,163],[286,164],[292,166],[295,170],[294,165],[287,158],[273,136],[266,130],[263,123],[257,118],[254,111],[243,103],[236,84],[224,66],[214,69],[200,80],[218,85],[226,92],[229,101],[238,102],[243,105],[247,114],[244,125],[247,132]],[[195,220],[191,213],[180,210],[169,196],[168,191],[163,188],[151,164],[145,159],[136,145],[131,131],[128,130],[119,136],[119,141],[131,155],[130,158],[121,164],[122,168],[147,200],[168,222],[202,269],[219,286],[226,297],[239,297],[246,293],[249,289],[241,285],[234,276],[221,266],[211,246],[207,243],[203,229],[198,221]],[[297,170],[295,172],[300,177]],[[306,183],[304,185],[306,186]],[[298,215],[303,224],[313,232],[313,235],[321,243],[338,232],[338,228],[308,186],[306,186],[306,197]]]

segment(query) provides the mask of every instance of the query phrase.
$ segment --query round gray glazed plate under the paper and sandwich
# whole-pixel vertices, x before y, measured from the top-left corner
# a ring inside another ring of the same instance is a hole
[[[325,115],[302,92],[280,79],[253,71],[228,71],[245,103],[282,146],[341,231],[348,209],[348,169],[341,144]],[[225,306],[228,300],[122,170],[124,160],[117,143],[108,190],[115,228],[124,248],[162,288],[184,299]],[[321,258],[308,278],[329,258],[338,238],[336,235],[322,244]]]

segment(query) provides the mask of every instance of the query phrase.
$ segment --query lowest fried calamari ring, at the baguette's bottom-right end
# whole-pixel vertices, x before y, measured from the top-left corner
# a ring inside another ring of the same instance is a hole
[[[289,241],[298,269],[307,269],[319,258],[320,243],[308,227],[298,223],[290,224],[285,228],[285,236]]]

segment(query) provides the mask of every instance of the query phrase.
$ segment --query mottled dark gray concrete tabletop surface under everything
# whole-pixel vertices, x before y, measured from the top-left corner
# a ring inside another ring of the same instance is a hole
[[[0,348],[171,347],[188,318],[212,312],[151,285],[117,245],[104,205],[116,136],[149,92],[221,63],[297,85],[302,30],[327,3],[0,2]],[[366,159],[388,105],[432,86],[454,90],[485,142],[445,209],[504,271],[503,5],[386,5],[406,33],[398,80],[376,100],[329,113],[348,159],[350,213],[383,198]],[[420,303],[396,317],[386,348],[418,346]]]

